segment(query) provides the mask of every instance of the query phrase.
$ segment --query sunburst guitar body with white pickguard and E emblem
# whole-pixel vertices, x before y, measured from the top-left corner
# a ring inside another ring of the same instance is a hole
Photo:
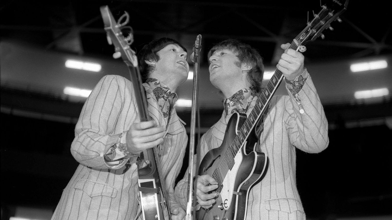
[[[227,173],[220,170],[220,164],[227,166],[223,155],[234,141],[247,116],[233,114],[227,124],[225,137],[219,148],[210,150],[201,161],[198,175],[209,174],[218,182],[219,196],[216,203],[209,209],[201,208],[196,212],[197,220],[244,220],[247,212],[247,201],[250,188],[261,178],[267,167],[267,157],[264,153],[255,151],[257,137],[252,132],[244,146],[234,157],[234,166]],[[220,174],[219,174],[220,173]],[[223,175],[223,176],[222,176]]]

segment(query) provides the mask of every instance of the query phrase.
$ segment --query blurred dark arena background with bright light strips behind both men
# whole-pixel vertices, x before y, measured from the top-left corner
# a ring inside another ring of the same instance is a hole
[[[85,97],[107,74],[128,76],[123,61],[112,57],[100,6],[108,5],[116,20],[129,13],[136,51],[165,36],[191,54],[202,35],[203,134],[223,110],[222,96],[209,82],[212,45],[234,38],[258,49],[267,82],[283,52],[281,43],[292,42],[320,5],[331,2],[2,0],[1,218],[50,219],[78,166],[70,146]],[[297,151],[299,194],[311,220],[392,219],[390,10],[381,0],[350,1],[340,18],[303,53],[325,108],[330,144],[318,154]],[[177,91],[177,112],[188,132],[192,80],[190,74]],[[287,93],[282,85],[276,95]],[[187,160],[186,155],[180,177]]]

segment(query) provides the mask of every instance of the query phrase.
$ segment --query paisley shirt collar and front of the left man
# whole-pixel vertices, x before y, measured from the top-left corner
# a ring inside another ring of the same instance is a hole
[[[172,109],[177,100],[177,94],[171,92],[170,88],[165,86],[158,79],[149,78],[146,80],[146,83],[152,88],[152,92],[162,111],[163,117],[168,117],[169,122]]]

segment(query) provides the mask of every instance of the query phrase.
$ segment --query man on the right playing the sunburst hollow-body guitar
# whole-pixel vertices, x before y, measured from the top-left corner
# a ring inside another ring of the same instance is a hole
[[[318,153],[329,143],[327,119],[312,79],[304,68],[304,57],[289,47],[289,43],[281,45],[285,51],[276,65],[285,77],[288,95],[272,97],[259,127],[256,151],[266,154],[269,167],[265,177],[249,191],[246,219],[305,220],[296,187],[295,148]],[[210,81],[223,93],[224,111],[220,120],[200,139],[201,159],[222,144],[232,114],[239,112],[249,116],[258,96],[264,95],[260,94],[263,61],[249,45],[225,40],[209,51],[208,58]],[[225,174],[222,175],[225,178]],[[214,192],[218,182],[210,175],[197,179],[196,199],[201,208],[219,206],[215,200],[219,194]],[[180,204],[186,199],[187,181],[185,175],[175,189]]]

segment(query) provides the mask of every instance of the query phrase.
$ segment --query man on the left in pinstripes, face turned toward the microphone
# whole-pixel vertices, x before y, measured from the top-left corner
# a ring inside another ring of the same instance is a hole
[[[107,75],[98,82],[83,106],[71,145],[80,164],[52,219],[142,218],[136,165],[141,161],[136,159],[154,147],[172,220],[183,218],[185,211],[174,200],[174,182],[188,137],[174,103],[177,87],[188,76],[186,58],[186,49],[170,38],[154,40],[138,54],[150,121],[140,122],[131,81]]]

